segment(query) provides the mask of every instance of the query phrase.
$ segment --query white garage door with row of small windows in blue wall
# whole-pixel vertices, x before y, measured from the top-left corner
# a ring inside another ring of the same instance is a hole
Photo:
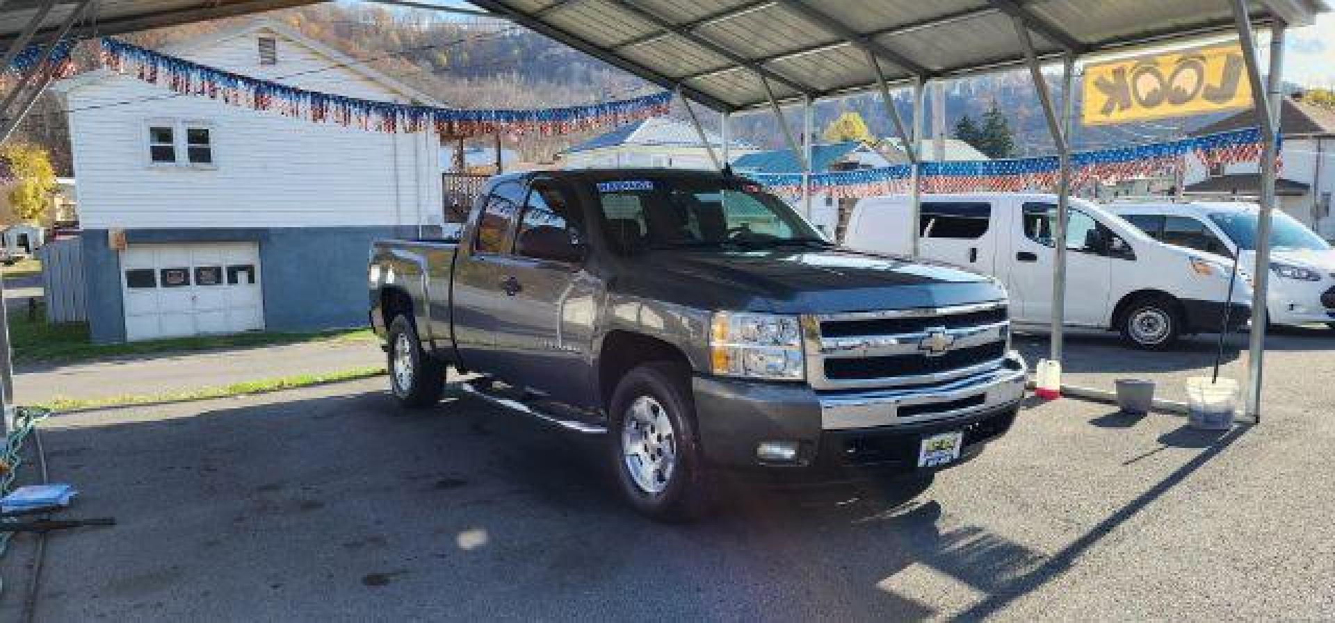
[[[255,243],[131,244],[120,253],[125,339],[264,328]]]

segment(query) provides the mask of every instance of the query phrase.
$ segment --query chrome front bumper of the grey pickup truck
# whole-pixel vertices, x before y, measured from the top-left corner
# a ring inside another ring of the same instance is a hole
[[[1027,375],[1024,359],[1011,351],[1000,367],[940,384],[825,394],[820,396],[821,428],[912,424],[995,410],[1024,398]]]

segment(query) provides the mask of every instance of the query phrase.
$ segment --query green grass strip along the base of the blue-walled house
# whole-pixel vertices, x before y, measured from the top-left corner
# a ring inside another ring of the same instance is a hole
[[[371,330],[358,328],[315,334],[255,331],[232,335],[200,335],[127,342],[120,344],[93,344],[88,342],[88,326],[85,323],[48,324],[40,309],[36,320],[29,320],[28,315],[23,311],[9,315],[9,343],[13,347],[13,359],[16,363],[73,363],[116,356],[162,355],[219,348],[374,340],[375,334]]]

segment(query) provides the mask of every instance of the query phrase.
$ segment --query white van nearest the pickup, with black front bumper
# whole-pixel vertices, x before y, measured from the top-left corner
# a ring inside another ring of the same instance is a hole
[[[909,251],[910,199],[862,199],[844,244],[868,251]],[[1159,243],[1121,217],[1071,200],[1067,228],[1065,323],[1120,331],[1139,348],[1165,348],[1179,336],[1218,332],[1231,264],[1218,255]],[[1056,195],[924,195],[920,252],[1003,280],[1016,324],[1052,322],[1052,225]],[[1230,324],[1251,315],[1251,287],[1239,273]]]

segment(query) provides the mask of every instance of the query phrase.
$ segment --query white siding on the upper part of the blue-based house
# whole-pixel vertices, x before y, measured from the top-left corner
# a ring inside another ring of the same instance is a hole
[[[263,32],[264,36],[275,36]],[[371,100],[403,97],[278,37],[260,65],[256,35],[179,55],[250,76]],[[127,101],[129,101],[127,104]],[[438,223],[433,132],[382,133],[256,112],[111,76],[69,91],[71,143],[84,228],[368,227]],[[150,120],[204,121],[215,168],[150,167]]]

